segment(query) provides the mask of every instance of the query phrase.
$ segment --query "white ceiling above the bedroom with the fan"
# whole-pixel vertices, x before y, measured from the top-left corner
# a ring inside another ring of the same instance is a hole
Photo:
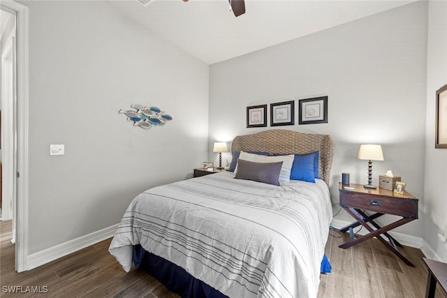
[[[245,0],[235,17],[228,0],[111,1],[122,13],[194,57],[214,64],[415,0]]]

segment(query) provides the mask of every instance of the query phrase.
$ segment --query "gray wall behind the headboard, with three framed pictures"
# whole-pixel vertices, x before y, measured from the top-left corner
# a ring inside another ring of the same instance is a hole
[[[295,100],[298,117],[298,99],[328,95],[328,124],[295,119],[295,126],[279,128],[332,135],[332,202],[338,202],[342,172],[350,172],[353,183],[367,183],[367,161],[357,159],[358,149],[378,143],[385,161],[374,162],[373,184],[393,170],[423,208],[426,62],[427,3],[416,2],[213,64],[210,142],[272,129],[246,128],[247,106]],[[397,231],[422,237],[420,215]],[[337,218],[352,221],[344,212]]]

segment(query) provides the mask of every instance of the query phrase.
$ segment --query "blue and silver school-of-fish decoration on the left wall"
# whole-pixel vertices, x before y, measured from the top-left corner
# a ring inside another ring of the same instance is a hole
[[[142,105],[131,105],[131,107],[134,110],[119,110],[119,114],[125,114],[127,121],[133,121],[134,126],[149,129],[152,126],[163,126],[173,119],[158,107],[144,107]]]

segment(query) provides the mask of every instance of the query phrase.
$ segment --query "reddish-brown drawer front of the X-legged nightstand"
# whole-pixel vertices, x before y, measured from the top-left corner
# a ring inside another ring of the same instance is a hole
[[[340,206],[418,218],[418,200],[340,191]]]

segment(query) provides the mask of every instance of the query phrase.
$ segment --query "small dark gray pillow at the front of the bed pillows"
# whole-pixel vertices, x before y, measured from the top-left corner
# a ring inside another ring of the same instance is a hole
[[[282,161],[277,163],[255,163],[254,161],[237,160],[235,179],[253,180],[279,186],[279,174]]]

